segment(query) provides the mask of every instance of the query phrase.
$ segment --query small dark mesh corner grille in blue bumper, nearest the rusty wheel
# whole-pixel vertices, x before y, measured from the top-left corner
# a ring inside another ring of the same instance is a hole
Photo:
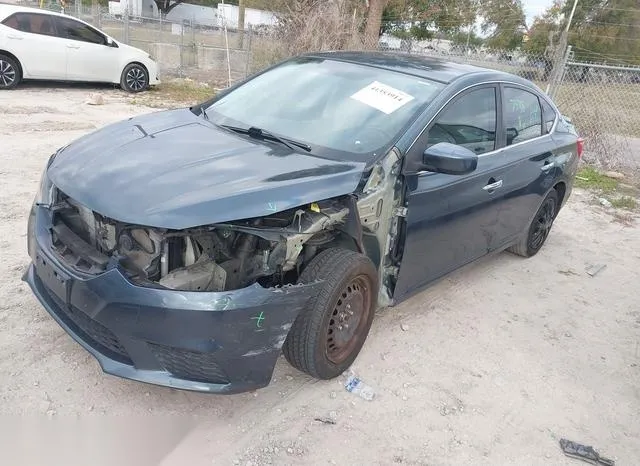
[[[200,353],[180,348],[148,343],[162,367],[175,377],[194,382],[227,384],[225,373],[210,353]]]

